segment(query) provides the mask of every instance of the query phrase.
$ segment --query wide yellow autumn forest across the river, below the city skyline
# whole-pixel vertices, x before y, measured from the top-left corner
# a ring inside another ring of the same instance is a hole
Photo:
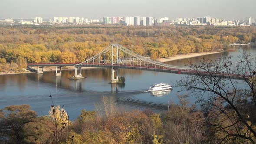
[[[23,71],[27,63],[82,62],[112,43],[157,60],[191,52],[221,51],[231,43],[255,41],[253,26],[3,26],[0,72]]]

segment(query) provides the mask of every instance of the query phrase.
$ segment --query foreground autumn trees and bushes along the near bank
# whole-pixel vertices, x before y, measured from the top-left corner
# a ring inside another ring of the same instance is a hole
[[[84,109],[70,121],[60,105],[49,106],[44,116],[30,105],[10,105],[0,110],[0,144],[206,144],[225,137],[225,132],[214,134],[214,127],[200,125],[203,112],[191,113],[193,107],[187,106],[180,97],[180,105],[161,113],[124,111],[114,98],[103,96],[95,111]]]

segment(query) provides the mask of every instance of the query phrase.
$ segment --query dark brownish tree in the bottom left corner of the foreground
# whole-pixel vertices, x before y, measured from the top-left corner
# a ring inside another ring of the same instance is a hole
[[[37,114],[30,105],[11,105],[0,110],[0,141],[22,144],[28,137],[38,135],[31,123],[37,122]]]

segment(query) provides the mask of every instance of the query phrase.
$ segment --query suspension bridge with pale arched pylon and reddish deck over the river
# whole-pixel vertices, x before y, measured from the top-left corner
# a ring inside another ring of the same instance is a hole
[[[177,74],[190,74],[196,75],[200,73],[201,75],[208,75],[206,71],[195,71],[193,69],[179,68],[172,65],[167,65],[161,62],[156,62],[151,60],[149,57],[144,57],[132,52],[131,50],[119,45],[112,44],[107,48],[103,49],[101,52],[92,56],[90,59],[86,59],[84,62],[80,63],[37,63],[28,64],[28,67],[36,66],[38,69],[37,73],[43,73],[44,66],[55,66],[56,76],[61,75],[62,66],[74,66],[75,75],[71,79],[82,79],[82,67],[102,67],[111,68],[112,76],[111,83],[118,83],[118,70],[117,69],[141,69],[147,71],[157,71],[157,72],[170,72]],[[42,68],[42,70],[39,69]],[[58,72],[58,68],[60,69]],[[79,74],[77,74],[77,69],[79,69]],[[114,73],[116,72],[116,77]],[[242,75],[218,73],[215,75],[231,77],[233,79],[241,79]]]

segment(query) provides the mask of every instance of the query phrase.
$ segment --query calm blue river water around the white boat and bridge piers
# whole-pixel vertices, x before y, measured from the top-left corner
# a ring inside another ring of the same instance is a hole
[[[207,59],[216,59],[218,56],[233,55],[233,61],[237,61],[241,49],[237,52],[224,52],[204,56]],[[256,54],[255,47],[248,49],[252,56]],[[188,60],[198,63],[200,57],[182,59],[167,62],[171,65],[184,66]],[[175,87],[175,81],[185,75],[164,72],[151,72],[142,70],[119,69],[119,76],[124,76],[125,85],[109,84],[111,69],[83,69],[82,75],[86,79],[69,80],[74,75],[73,70],[62,71],[62,76],[56,77],[55,72],[44,74],[17,74],[0,75],[0,109],[8,105],[31,105],[39,115],[47,115],[52,101],[49,98],[51,92],[55,105],[64,105],[72,120],[77,118],[82,109],[94,110],[103,95],[113,97],[119,106],[127,110],[132,108],[151,108],[156,111],[167,109],[168,103],[178,103],[177,93],[181,89]],[[159,95],[145,92],[150,85],[166,82],[174,85],[171,92]],[[182,92],[183,94],[186,92]],[[190,104],[196,99],[190,98]]]

